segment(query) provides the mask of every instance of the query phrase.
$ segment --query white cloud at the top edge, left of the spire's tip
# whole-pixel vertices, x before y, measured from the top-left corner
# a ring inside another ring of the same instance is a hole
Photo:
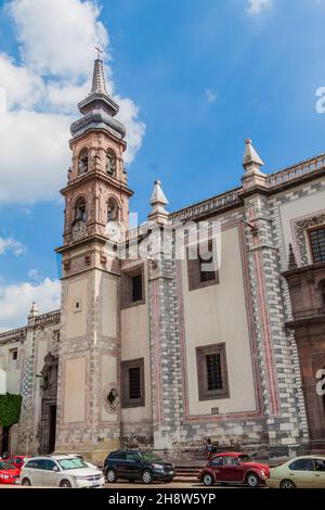
[[[42,75],[88,77],[95,46],[108,44],[93,1],[13,0],[8,9],[25,65]]]

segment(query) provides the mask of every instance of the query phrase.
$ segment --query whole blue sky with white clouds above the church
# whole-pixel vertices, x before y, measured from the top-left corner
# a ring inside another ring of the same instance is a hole
[[[0,331],[60,307],[69,125],[95,46],[127,127],[144,220],[325,152],[325,0],[0,0]],[[323,94],[323,95],[320,95]]]

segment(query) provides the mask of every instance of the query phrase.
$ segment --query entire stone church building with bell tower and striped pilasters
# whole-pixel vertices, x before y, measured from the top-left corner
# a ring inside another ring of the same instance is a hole
[[[270,456],[325,442],[325,154],[266,174],[246,140],[237,188],[170,212],[157,180],[130,229],[126,129],[100,59],[78,106],[61,310],[34,304],[0,334],[5,391],[23,396],[2,449],[102,461],[195,455],[207,437]]]

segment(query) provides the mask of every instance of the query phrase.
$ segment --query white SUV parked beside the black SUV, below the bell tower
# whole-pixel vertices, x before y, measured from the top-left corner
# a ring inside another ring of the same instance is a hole
[[[74,455],[32,457],[21,471],[22,485],[48,487],[103,487],[105,479],[99,469],[89,468]]]

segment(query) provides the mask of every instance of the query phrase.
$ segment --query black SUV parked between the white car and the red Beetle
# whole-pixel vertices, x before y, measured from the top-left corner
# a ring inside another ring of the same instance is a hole
[[[109,483],[118,479],[142,480],[145,484],[161,480],[171,482],[174,477],[174,466],[164,461],[153,451],[112,451],[104,462],[104,474]]]

